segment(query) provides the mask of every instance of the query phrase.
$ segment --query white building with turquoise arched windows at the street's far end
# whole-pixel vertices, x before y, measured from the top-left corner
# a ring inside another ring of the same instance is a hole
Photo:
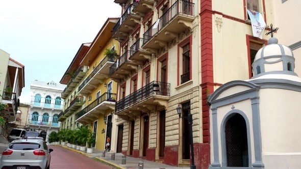
[[[30,84],[31,102],[26,127],[39,131],[45,140],[48,134],[60,128],[58,116],[63,109],[61,94],[65,87],[54,81],[35,80]]]

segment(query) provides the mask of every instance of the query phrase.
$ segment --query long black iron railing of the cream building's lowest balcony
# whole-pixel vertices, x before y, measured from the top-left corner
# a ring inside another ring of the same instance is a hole
[[[136,92],[124,97],[115,104],[115,112],[123,110],[150,95],[170,96],[170,83],[152,81]]]

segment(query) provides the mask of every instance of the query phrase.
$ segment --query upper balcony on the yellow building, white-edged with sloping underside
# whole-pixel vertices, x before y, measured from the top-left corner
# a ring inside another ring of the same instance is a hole
[[[79,86],[79,92],[85,96],[92,93],[92,90],[95,89],[99,83],[103,83],[104,79],[108,78],[109,68],[114,62],[113,59],[106,56],[96,67],[94,67],[90,75]]]

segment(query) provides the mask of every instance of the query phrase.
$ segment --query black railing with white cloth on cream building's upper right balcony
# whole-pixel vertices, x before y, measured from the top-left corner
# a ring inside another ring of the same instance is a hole
[[[148,28],[143,34],[143,44],[151,39],[157,32],[159,32],[169,21],[171,21],[178,14],[186,14],[194,16],[194,3],[188,1],[176,1],[162,16]]]

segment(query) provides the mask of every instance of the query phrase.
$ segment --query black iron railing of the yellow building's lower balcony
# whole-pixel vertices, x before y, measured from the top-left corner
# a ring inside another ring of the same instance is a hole
[[[76,114],[77,119],[81,118],[87,112],[92,110],[94,107],[97,107],[99,104],[103,103],[104,101],[115,102],[116,101],[115,98],[116,98],[116,93],[108,93],[108,92],[104,93],[102,96],[99,96],[96,100],[94,100],[91,104],[89,104],[88,106],[83,108],[81,111],[79,111]]]

